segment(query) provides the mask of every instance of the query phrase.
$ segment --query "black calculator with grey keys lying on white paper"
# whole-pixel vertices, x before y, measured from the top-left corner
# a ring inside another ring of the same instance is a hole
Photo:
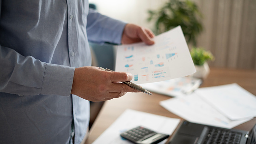
[[[137,126],[126,132],[122,132],[120,136],[134,144],[157,144],[169,137],[167,134],[154,132],[143,126]]]

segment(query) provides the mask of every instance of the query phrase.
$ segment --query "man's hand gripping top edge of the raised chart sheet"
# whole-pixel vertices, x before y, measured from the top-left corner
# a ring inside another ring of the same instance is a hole
[[[140,27],[135,24],[126,24],[122,34],[122,44],[130,44],[134,42],[145,42],[147,45],[154,44],[152,38],[154,34],[151,30]]]

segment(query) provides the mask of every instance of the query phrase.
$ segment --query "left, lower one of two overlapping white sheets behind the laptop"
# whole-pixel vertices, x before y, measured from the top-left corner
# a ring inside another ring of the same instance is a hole
[[[233,128],[251,120],[229,120],[225,115],[203,101],[196,93],[161,101],[160,105],[185,120],[211,126]]]

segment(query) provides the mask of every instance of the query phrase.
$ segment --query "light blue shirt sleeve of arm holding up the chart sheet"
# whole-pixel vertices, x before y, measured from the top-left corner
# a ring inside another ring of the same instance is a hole
[[[97,43],[121,44],[122,32],[126,24],[89,9],[86,26],[88,40]]]

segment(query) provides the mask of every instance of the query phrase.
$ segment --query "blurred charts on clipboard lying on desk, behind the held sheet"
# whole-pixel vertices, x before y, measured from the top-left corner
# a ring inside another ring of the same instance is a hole
[[[146,90],[159,94],[173,97],[181,97],[193,92],[200,86],[201,83],[201,79],[187,76],[161,82],[140,84],[140,86],[142,86]]]

